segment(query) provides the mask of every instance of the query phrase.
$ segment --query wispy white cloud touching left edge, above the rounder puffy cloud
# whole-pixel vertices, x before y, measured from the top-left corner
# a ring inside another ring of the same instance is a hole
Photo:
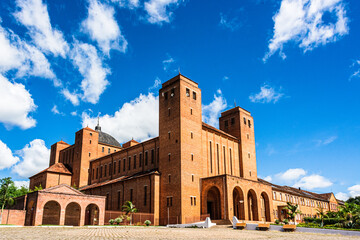
[[[7,31],[0,26],[0,73],[13,69],[17,70],[18,78],[32,75],[53,79],[55,86],[61,84],[40,50],[22,41],[11,30]]]

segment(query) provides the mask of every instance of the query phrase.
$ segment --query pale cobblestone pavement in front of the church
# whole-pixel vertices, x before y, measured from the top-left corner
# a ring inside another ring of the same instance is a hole
[[[225,226],[210,229],[165,227],[102,227],[102,228],[0,228],[0,239],[360,239],[340,235],[283,233],[277,231],[233,230]]]

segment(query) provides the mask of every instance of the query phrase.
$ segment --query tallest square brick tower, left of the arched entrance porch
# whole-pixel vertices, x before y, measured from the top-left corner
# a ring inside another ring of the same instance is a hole
[[[179,74],[159,94],[160,218],[163,223],[200,216],[201,90]]]

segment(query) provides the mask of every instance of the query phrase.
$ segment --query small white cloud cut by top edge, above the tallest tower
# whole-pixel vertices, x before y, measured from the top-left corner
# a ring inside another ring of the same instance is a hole
[[[144,8],[148,14],[149,23],[162,24],[169,23],[173,15],[171,9],[179,6],[183,0],[150,0],[145,2]]]

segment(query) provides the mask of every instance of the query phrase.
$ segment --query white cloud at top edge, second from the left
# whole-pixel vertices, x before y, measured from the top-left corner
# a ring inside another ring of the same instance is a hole
[[[113,7],[102,4],[98,0],[90,0],[88,17],[82,22],[83,31],[89,34],[107,55],[111,49],[125,52],[128,45],[121,34],[114,14]]]

